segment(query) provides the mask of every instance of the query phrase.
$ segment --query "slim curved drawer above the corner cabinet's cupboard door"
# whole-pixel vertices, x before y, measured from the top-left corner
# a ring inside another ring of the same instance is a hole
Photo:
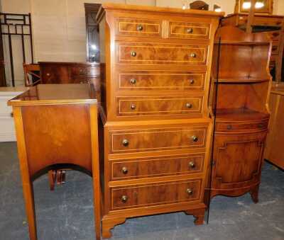
[[[258,122],[244,122],[244,123],[232,123],[232,122],[217,122],[217,132],[258,132],[268,128],[268,120]]]

